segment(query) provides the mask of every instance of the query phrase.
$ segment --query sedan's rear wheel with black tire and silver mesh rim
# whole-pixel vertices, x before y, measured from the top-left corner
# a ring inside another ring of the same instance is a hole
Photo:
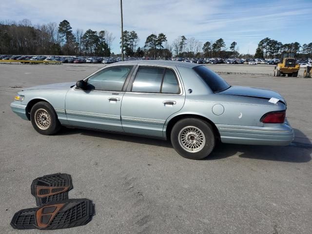
[[[189,159],[205,158],[215,148],[212,126],[198,118],[184,118],[176,122],[170,138],[176,152]]]

